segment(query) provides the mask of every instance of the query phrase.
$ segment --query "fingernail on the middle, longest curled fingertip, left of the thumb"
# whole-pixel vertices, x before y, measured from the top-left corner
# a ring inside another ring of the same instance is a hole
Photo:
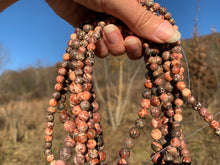
[[[110,44],[116,44],[118,43],[119,36],[117,34],[117,29],[115,28],[114,25],[109,24],[104,27],[104,33],[105,33],[105,38],[107,39],[107,42]]]

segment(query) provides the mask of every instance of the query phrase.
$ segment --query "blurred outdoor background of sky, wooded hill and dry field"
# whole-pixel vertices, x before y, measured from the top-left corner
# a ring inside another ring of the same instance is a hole
[[[155,2],[166,7],[179,26],[189,61],[193,95],[211,113],[219,112],[220,1]],[[46,108],[58,63],[73,31],[74,28],[42,0],[20,0],[0,12],[0,164],[46,164],[43,154]],[[96,59],[94,84],[100,92],[98,101],[108,164],[116,164],[117,146],[123,145],[124,135],[128,135],[131,123],[137,118],[144,68],[142,59],[131,61],[126,56]],[[125,99],[118,99],[119,95]],[[108,101],[111,106],[107,106]],[[188,106],[185,106],[183,120],[185,136],[206,124]],[[216,120],[220,121],[220,117]],[[146,128],[131,152],[130,164],[145,164],[150,158],[150,121],[150,118],[146,121]],[[56,157],[65,137],[60,130],[62,124],[57,124],[53,147]],[[219,141],[208,127],[186,143],[192,164],[220,164]]]

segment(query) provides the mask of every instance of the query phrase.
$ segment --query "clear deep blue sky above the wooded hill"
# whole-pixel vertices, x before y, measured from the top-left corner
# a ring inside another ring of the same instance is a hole
[[[196,0],[155,0],[172,13],[183,38],[192,36]],[[220,32],[220,1],[200,0],[199,35]],[[0,44],[8,55],[1,68],[19,70],[51,66],[62,60],[73,27],[59,18],[44,0],[20,0],[0,13]]]

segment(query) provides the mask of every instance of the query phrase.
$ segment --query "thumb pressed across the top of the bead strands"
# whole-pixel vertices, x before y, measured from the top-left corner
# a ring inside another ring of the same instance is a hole
[[[179,31],[166,20],[153,15],[137,0],[74,0],[87,8],[113,15],[138,36],[158,43],[172,43],[180,39]]]

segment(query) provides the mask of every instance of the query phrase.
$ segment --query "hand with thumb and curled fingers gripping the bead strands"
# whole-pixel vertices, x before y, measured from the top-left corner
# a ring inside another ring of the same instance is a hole
[[[172,43],[180,39],[179,31],[166,20],[146,11],[137,0],[46,0],[51,8],[71,25],[76,26],[92,10],[105,12],[122,20],[138,36],[157,43]],[[131,59],[142,55],[141,41],[135,36],[123,39],[115,25],[103,29],[103,39],[97,43],[96,55],[109,53],[121,55],[127,52]]]

